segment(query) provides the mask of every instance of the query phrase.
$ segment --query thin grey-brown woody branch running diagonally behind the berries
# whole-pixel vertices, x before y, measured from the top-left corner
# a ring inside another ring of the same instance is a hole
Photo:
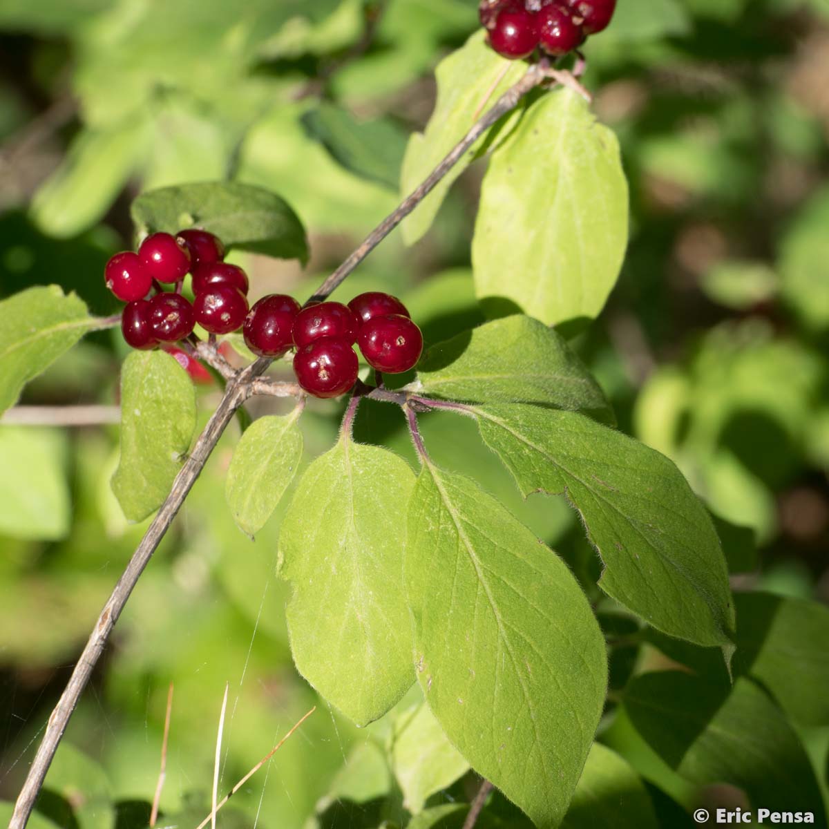
[[[549,70],[545,66],[531,66],[526,71],[526,75],[516,85],[512,86],[511,89],[507,90],[492,106],[492,109],[489,109],[474,124],[466,137],[439,163],[438,167],[435,168],[434,172],[432,172],[423,184],[406,198],[397,210],[391,213],[390,216],[387,216],[366,237],[366,240],[354,253],[322,283],[317,293],[308,302],[327,298],[334,288],[342,284],[347,276],[351,274],[351,271],[405,219],[405,216],[408,216],[429,195],[429,192],[463,158],[463,155],[478,141],[478,138],[513,109],[527,92],[541,85],[549,76],[548,72]],[[65,687],[55,710],[52,711],[49,717],[46,731],[37,749],[35,759],[32,761],[32,766],[29,768],[26,782],[23,784],[21,793],[17,797],[12,820],[9,822],[9,829],[24,829],[26,826],[29,815],[32,813],[32,808],[35,805],[37,794],[40,792],[43,781],[46,778],[46,772],[49,770],[52,758],[55,756],[58,744],[60,744],[61,738],[66,730],[66,725],[68,725],[70,716],[78,704],[81,693],[90,680],[95,664],[98,662],[101,653],[104,652],[109,634],[112,633],[116,621],[124,610],[124,605],[127,604],[130,594],[132,594],[135,585],[138,583],[138,578],[143,573],[153,552],[155,552],[172,524],[173,518],[175,518],[177,512],[182,507],[187,493],[190,492],[191,487],[196,482],[196,478],[198,478],[202,468],[204,468],[207,458],[210,457],[213,449],[216,448],[221,434],[225,431],[228,424],[230,424],[230,420],[233,419],[235,411],[253,393],[274,394],[274,387],[281,392],[279,396],[289,396],[289,394],[295,393],[296,387],[293,387],[293,384],[277,385],[259,380],[271,362],[272,360],[267,357],[259,357],[259,360],[255,361],[255,363],[252,363],[242,371],[236,372],[231,376],[221,403],[201,433],[199,439],[196,440],[191,456],[187,459],[187,463],[184,464],[181,472],[178,473],[172,485],[172,490],[167,496],[167,500],[162,504],[161,509],[153,519],[153,523],[150,524],[146,535],[138,545],[138,549],[135,550],[132,559],[130,559],[127,569],[124,570],[124,574],[122,574],[118,584],[115,585],[112,595],[104,605],[98,622],[95,623],[95,628],[90,635],[89,641],[86,643],[86,647],[81,653],[78,663],[75,665],[75,670],[72,671],[69,683]],[[288,385],[293,387],[290,393],[288,393]]]

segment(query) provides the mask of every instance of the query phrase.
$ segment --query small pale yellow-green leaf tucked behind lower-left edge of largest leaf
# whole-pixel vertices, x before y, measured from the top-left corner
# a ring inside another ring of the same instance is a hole
[[[391,764],[403,791],[403,805],[412,814],[421,812],[427,798],[469,770],[424,703],[404,711],[395,721]]]

